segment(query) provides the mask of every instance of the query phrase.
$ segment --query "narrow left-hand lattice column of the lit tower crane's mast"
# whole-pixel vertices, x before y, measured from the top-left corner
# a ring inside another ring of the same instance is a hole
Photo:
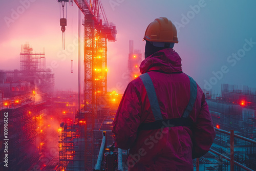
[[[84,17],[84,164],[86,170],[92,170],[94,156],[94,110],[95,110],[95,27],[94,20]]]

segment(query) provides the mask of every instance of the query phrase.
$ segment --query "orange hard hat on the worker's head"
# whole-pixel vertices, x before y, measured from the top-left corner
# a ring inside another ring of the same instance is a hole
[[[153,42],[173,42],[178,44],[177,29],[166,17],[156,18],[147,26],[144,40]]]

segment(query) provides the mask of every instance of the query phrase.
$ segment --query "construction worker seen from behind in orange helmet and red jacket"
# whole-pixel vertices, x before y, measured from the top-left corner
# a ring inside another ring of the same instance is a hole
[[[166,17],[148,25],[142,75],[131,81],[119,104],[112,132],[129,149],[129,170],[193,170],[215,130],[201,88],[182,72],[173,50],[177,30]]]

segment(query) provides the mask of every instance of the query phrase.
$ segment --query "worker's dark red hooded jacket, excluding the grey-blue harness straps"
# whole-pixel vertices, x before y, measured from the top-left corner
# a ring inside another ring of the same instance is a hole
[[[190,81],[182,73],[181,58],[173,49],[154,53],[141,62],[141,73],[150,76],[163,119],[180,118],[189,102]],[[113,121],[115,144],[130,149],[130,170],[193,170],[192,158],[206,154],[215,130],[208,105],[197,85],[196,101],[188,116],[193,126],[138,131],[141,123],[156,121],[140,77],[131,81]]]

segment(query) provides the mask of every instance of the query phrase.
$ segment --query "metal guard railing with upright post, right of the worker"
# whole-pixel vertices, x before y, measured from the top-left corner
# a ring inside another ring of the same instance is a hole
[[[236,164],[237,166],[239,166],[239,167],[241,167],[245,170],[253,171],[252,169],[246,167],[245,165],[243,165],[243,164],[241,164],[237,161],[234,161],[234,137],[239,138],[239,139],[244,140],[244,141],[247,141],[247,142],[250,142],[250,143],[253,143],[253,144],[256,144],[256,141],[254,141],[252,139],[249,139],[249,138],[246,138],[246,137],[242,137],[242,136],[237,135],[237,134],[234,134],[234,130],[230,130],[228,132],[228,131],[217,129],[215,127],[215,131],[226,134],[226,135],[230,135],[230,158],[227,157],[227,156],[222,155],[221,153],[216,152],[213,149],[209,149],[209,151],[211,153],[214,153],[215,155],[218,155],[218,156],[222,157],[223,159],[228,160],[230,162],[230,171],[234,170],[234,164]],[[197,164],[196,164],[197,171],[199,171],[199,160],[200,159],[197,158]]]

